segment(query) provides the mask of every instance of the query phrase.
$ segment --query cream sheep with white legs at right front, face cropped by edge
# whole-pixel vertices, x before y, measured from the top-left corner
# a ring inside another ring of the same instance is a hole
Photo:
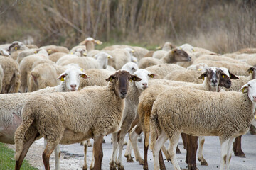
[[[255,96],[256,80],[242,86],[240,92],[225,91],[213,94],[210,91],[177,87],[159,94],[151,115],[150,147],[153,150],[154,169],[159,169],[159,150],[168,139],[174,169],[181,169],[174,152],[181,132],[219,136],[220,169],[229,169],[231,144],[235,137],[249,130],[255,117]],[[157,140],[156,131],[159,134]]]

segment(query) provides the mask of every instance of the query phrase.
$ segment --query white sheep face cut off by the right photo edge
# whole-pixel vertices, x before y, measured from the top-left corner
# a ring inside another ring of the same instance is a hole
[[[256,104],[256,79],[250,80],[247,84],[243,85],[239,91],[248,93],[248,97],[252,103]]]

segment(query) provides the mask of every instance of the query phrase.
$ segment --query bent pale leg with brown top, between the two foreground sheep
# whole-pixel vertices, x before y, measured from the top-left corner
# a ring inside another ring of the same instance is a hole
[[[142,159],[141,155],[139,154],[139,148],[137,145],[137,138],[142,133],[142,126],[137,125],[134,131],[131,134],[130,140],[132,142],[132,148],[134,149],[135,159],[139,164],[144,164],[144,160]]]

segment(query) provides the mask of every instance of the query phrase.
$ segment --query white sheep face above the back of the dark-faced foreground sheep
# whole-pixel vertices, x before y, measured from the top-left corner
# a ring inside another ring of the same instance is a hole
[[[60,74],[58,79],[60,79],[60,81],[65,81],[69,91],[77,91],[80,84],[80,77],[83,79],[90,78],[87,76],[87,74],[82,72],[81,69],[70,68],[66,69],[65,72]]]

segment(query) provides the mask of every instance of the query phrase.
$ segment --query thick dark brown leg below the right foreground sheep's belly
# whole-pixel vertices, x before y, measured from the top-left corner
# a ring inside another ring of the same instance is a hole
[[[185,135],[185,134],[184,134]],[[186,135],[187,153],[186,163],[189,170],[196,170],[196,150],[198,148],[198,137]]]

